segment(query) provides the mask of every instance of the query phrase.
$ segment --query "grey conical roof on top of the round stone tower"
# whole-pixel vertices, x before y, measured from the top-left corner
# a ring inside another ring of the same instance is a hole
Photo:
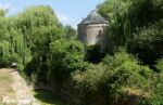
[[[92,11],[79,25],[82,24],[108,24],[109,22],[104,19],[97,11]]]

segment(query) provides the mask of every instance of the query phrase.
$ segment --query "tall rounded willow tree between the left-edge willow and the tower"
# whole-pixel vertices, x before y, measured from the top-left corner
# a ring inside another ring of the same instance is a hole
[[[33,55],[25,71],[29,76],[35,75],[36,80],[46,80],[49,45],[63,37],[62,25],[53,10],[45,5],[26,9],[16,19],[24,47],[28,48]]]

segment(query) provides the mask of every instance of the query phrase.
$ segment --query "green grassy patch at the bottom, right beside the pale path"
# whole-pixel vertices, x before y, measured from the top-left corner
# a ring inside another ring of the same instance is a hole
[[[47,90],[34,90],[34,96],[41,105],[67,105],[64,101],[55,96],[52,92]]]

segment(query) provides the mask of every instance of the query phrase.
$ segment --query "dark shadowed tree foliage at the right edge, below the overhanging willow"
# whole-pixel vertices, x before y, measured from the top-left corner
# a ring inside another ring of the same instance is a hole
[[[163,21],[138,30],[128,49],[146,64],[154,64],[163,54]]]

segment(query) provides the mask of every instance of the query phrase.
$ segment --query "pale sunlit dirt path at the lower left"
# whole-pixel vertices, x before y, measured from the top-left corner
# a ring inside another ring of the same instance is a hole
[[[25,80],[21,77],[21,75],[13,69],[11,69],[10,74],[13,80],[11,87],[15,92],[15,99],[16,99],[15,101],[11,100],[14,103],[14,105],[39,105],[36,102],[36,99],[32,95],[29,87],[27,86]],[[5,99],[7,97],[4,97],[3,101],[7,101]],[[12,103],[10,102],[10,99],[7,102]],[[8,105],[8,103],[5,105]]]

